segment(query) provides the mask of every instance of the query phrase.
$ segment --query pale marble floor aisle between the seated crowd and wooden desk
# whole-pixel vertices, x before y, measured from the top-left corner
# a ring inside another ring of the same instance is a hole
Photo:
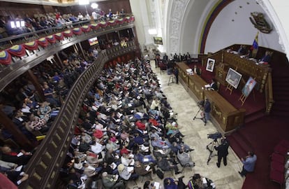
[[[154,62],[151,63],[154,67]],[[238,171],[242,169],[242,162],[239,160],[237,155],[229,148],[228,155],[228,165],[225,167],[221,164],[221,167],[216,167],[217,156],[214,156],[207,165],[207,160],[209,158],[209,151],[206,149],[207,144],[212,142],[212,139],[207,139],[207,134],[214,134],[217,132],[216,127],[208,122],[204,125],[202,120],[195,119],[193,117],[198,113],[197,102],[190,96],[190,94],[184,89],[184,87],[179,83],[170,83],[168,85],[168,80],[170,76],[166,72],[162,72],[159,69],[154,69],[154,72],[158,75],[159,82],[161,83],[161,90],[168,98],[168,102],[172,106],[172,109],[177,113],[177,123],[179,125],[179,130],[185,135],[183,138],[185,144],[195,148],[195,151],[191,151],[191,157],[193,162],[195,162],[195,167],[193,169],[185,168],[182,174],[171,175],[165,173],[165,177],[172,177],[177,179],[179,176],[184,177],[184,183],[188,183],[193,174],[200,174],[214,181],[216,188],[221,189],[239,189],[242,188],[244,179],[239,176]],[[197,115],[200,117],[200,115]],[[214,151],[216,154],[216,151]],[[153,174],[152,179],[158,181],[161,184],[163,181],[158,179],[156,174]],[[138,179],[138,186],[142,187],[142,179]],[[128,183],[129,188],[134,188],[135,183]]]

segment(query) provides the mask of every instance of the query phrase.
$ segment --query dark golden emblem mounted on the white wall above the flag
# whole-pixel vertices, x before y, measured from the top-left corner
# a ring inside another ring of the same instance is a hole
[[[250,21],[255,28],[260,30],[262,33],[269,34],[272,31],[272,27],[265,20],[263,13],[253,12],[251,13]]]

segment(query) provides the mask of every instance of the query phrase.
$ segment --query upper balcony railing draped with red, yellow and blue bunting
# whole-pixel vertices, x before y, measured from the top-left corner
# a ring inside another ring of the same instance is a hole
[[[14,45],[11,48],[0,51],[0,91],[22,73],[43,62],[47,57],[55,55],[60,50],[68,48],[75,43],[109,34],[114,31],[134,27],[133,18],[126,18],[126,21],[116,21],[112,23],[99,22],[98,24],[87,25],[86,27],[76,27],[66,29],[61,33],[38,38],[32,43]],[[88,29],[90,28],[90,29]],[[59,37],[59,39],[57,39]],[[30,45],[30,46],[27,46]],[[9,61],[10,60],[10,61]]]

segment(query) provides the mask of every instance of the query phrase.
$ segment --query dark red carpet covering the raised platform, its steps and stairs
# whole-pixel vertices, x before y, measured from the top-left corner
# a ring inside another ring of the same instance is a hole
[[[214,73],[202,69],[202,78],[210,83]],[[193,67],[193,65],[191,65]],[[258,157],[255,165],[255,172],[248,174],[244,181],[243,189],[279,189],[279,183],[269,180],[270,158],[274,146],[282,139],[288,140],[289,133],[289,66],[272,66],[272,80],[274,86],[275,104],[272,109],[272,116],[264,116],[265,97],[260,92],[249,95],[242,108],[246,109],[245,125],[228,136],[233,151],[242,158],[248,151],[254,151]],[[233,90],[232,94],[225,91],[225,86],[220,87],[220,94],[237,109],[241,108],[238,101],[241,92]]]

